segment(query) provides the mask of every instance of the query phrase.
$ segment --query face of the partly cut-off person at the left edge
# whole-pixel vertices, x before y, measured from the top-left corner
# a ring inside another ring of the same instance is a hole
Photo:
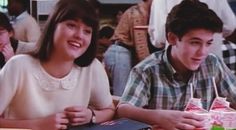
[[[8,32],[6,29],[0,27],[0,52],[6,44],[10,44],[10,37],[12,32]]]

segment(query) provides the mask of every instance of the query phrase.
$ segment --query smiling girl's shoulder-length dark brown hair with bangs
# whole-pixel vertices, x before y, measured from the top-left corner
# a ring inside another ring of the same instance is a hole
[[[44,31],[38,41],[38,47],[32,54],[41,61],[47,61],[53,50],[53,37],[58,23],[65,20],[81,19],[92,28],[92,39],[83,55],[75,59],[78,66],[88,66],[96,56],[96,41],[98,33],[98,16],[94,8],[86,0],[60,0],[54,12],[48,18]]]

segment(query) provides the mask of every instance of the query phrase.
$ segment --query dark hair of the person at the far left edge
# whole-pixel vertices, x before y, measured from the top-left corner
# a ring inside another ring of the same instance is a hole
[[[0,12],[0,29],[6,29],[8,32],[12,32],[13,31],[13,27],[12,27],[12,25],[10,23],[10,20],[2,12]]]

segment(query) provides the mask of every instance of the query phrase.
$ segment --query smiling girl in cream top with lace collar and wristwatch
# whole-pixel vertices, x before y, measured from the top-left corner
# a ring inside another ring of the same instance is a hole
[[[86,0],[58,1],[36,51],[0,71],[0,128],[65,130],[113,118],[108,78],[95,59],[97,29]]]

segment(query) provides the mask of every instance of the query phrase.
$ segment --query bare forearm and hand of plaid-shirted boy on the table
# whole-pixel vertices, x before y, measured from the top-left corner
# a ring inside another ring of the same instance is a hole
[[[119,104],[117,113],[119,117],[157,125],[166,130],[203,127],[201,116],[181,111],[144,109],[130,104]]]

